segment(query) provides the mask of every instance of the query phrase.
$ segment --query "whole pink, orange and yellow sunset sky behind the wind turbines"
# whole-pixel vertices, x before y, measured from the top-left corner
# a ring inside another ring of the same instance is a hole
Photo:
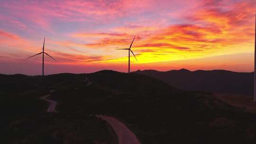
[[[256,0],[0,0],[0,73],[254,70]]]

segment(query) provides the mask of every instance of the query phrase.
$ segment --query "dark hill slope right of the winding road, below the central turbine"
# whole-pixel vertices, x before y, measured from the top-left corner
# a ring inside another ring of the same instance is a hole
[[[53,94],[61,102],[57,110],[118,117],[142,144],[249,144],[254,139],[247,138],[248,131],[256,132],[254,114],[207,93],[177,90],[136,73],[100,71],[84,77],[90,87]]]

